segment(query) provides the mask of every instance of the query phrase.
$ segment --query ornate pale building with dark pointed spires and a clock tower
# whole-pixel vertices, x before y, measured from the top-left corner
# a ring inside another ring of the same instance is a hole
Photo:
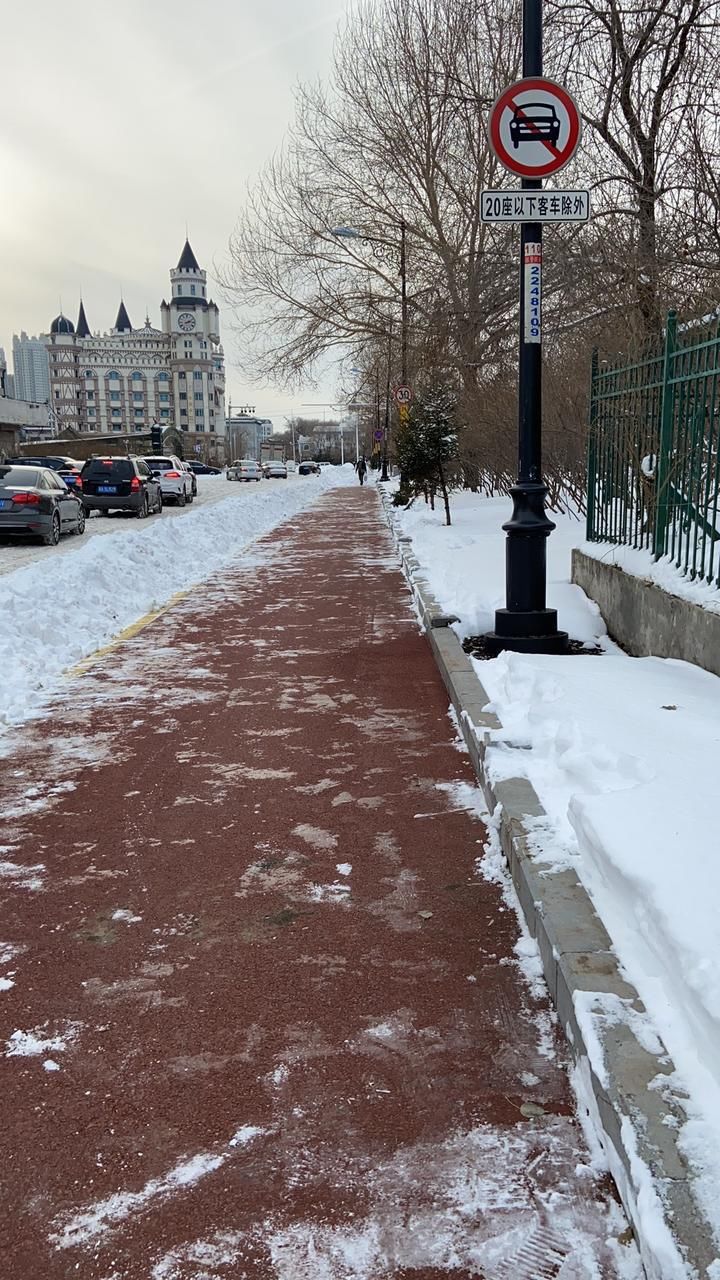
[[[219,311],[186,241],[170,270],[161,328],[133,329],[123,301],[106,334],[92,334],[81,301],[77,325],[59,315],[45,338],[58,434],[146,434],[152,424],[182,434],[184,452],[224,456],[225,369]]]

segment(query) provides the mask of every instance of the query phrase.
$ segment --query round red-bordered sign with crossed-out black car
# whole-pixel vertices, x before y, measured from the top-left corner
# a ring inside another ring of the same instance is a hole
[[[568,90],[544,77],[510,84],[489,114],[489,145],[520,178],[547,178],[573,159],[580,114]]]

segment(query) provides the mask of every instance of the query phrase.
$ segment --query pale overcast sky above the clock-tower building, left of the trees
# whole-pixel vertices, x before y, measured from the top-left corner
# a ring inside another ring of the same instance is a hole
[[[246,183],[282,142],[297,79],[327,77],[346,0],[29,0],[0,20],[0,347],[60,310],[160,324],[186,223],[200,265],[227,257]],[[334,381],[287,397],[233,367],[228,393],[282,428]],[[304,412],[310,413],[310,410]],[[320,411],[322,412],[322,411]]]

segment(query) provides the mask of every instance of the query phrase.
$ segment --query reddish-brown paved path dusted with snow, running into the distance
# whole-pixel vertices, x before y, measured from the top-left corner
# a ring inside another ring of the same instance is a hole
[[[3,1275],[639,1280],[372,492],[12,744]]]

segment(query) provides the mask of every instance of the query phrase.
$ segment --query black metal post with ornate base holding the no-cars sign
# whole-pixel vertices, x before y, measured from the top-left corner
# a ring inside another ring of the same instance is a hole
[[[523,77],[542,76],[542,0],[523,0]],[[523,178],[523,189],[542,187]],[[542,224],[523,223],[520,230],[520,344],[518,376],[518,480],[510,490],[512,515],[506,540],[506,607],[495,614],[495,631],[486,637],[491,652],[561,653],[568,635],[557,630],[557,611],[546,605],[547,539],[555,525],[544,509],[542,479],[542,342],[525,324],[528,262],[541,265]]]

